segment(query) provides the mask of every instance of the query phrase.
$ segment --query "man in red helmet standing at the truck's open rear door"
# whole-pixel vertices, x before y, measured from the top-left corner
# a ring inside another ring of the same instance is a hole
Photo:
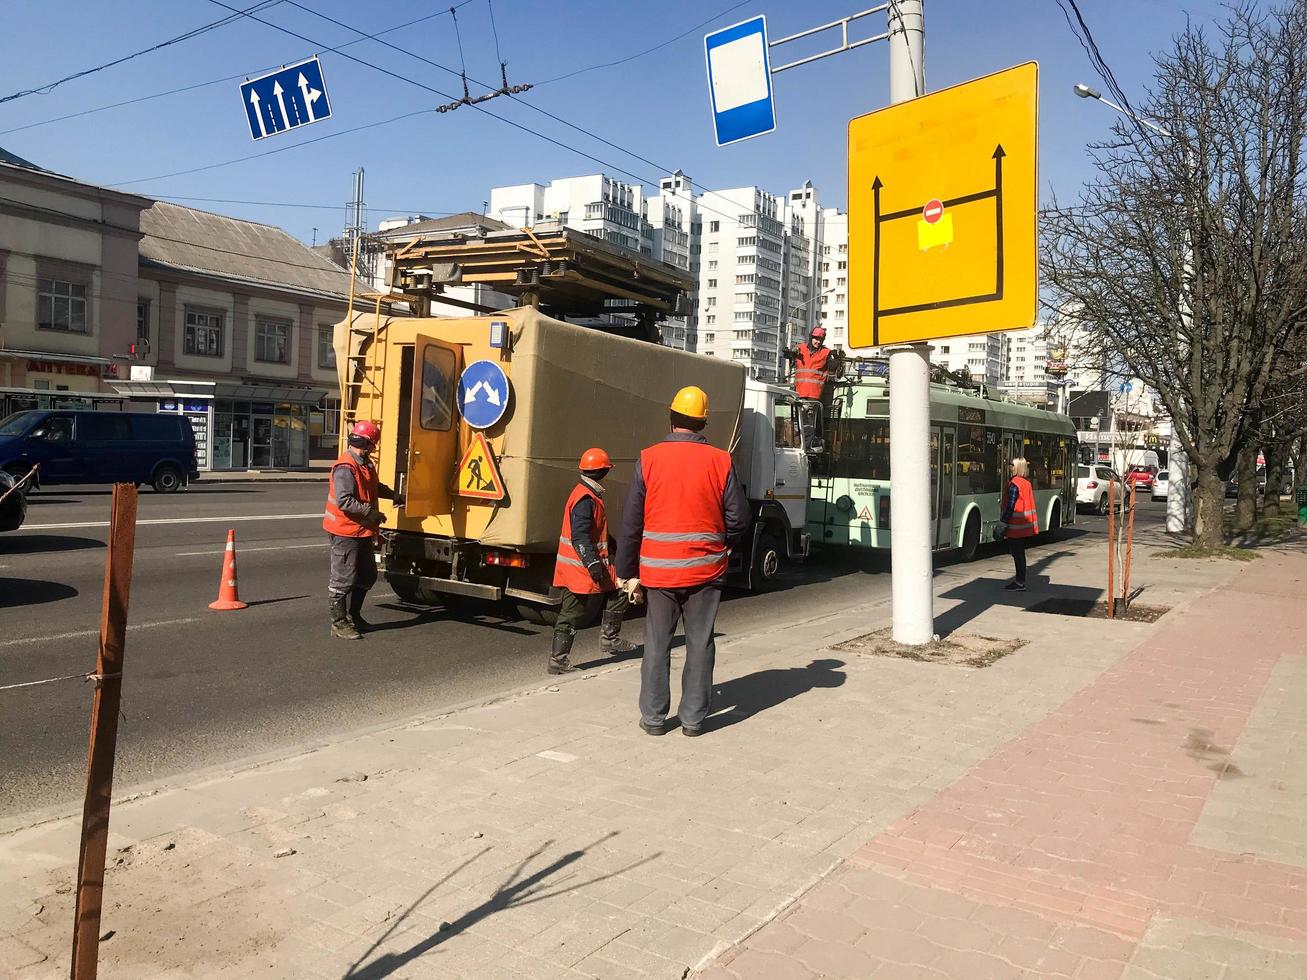
[[[380,498],[397,504],[404,498],[382,486],[372,465],[372,453],[382,440],[375,422],[356,422],[349,430],[348,448],[332,464],[327,487],[327,512],[323,529],[331,541],[331,635],[357,640],[370,629],[363,621],[363,598],[376,583],[376,549],[374,538],[386,515],[376,508]]]

